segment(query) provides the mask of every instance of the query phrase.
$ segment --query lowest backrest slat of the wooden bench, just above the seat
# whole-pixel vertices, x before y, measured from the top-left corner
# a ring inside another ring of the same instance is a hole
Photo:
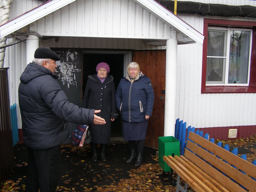
[[[223,175],[221,172],[213,168],[211,165],[207,164],[204,160],[191,153],[189,150],[186,150],[185,157],[193,162],[196,166],[218,181],[222,186],[227,188],[229,191],[243,191],[246,192],[242,187],[238,184],[230,180],[228,177]]]

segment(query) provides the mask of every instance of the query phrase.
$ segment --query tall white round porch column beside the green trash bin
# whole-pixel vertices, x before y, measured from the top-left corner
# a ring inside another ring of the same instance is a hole
[[[166,41],[164,136],[174,136],[175,132],[177,45],[177,39]]]

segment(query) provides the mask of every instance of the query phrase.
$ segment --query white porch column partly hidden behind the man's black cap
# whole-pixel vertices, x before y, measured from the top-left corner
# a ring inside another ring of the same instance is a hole
[[[34,53],[39,47],[39,37],[36,35],[27,36],[27,65],[34,59]]]

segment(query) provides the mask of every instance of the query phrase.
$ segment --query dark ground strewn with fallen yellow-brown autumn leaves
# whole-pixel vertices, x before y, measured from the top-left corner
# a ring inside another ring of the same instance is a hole
[[[256,159],[255,135],[248,139],[221,142],[223,145],[229,144],[231,149],[238,147],[239,155],[247,154],[249,162]],[[1,192],[25,191],[26,147],[23,144],[16,145],[14,155],[13,172],[5,181]],[[132,163],[125,163],[128,156],[127,143],[108,144],[108,161],[96,163],[91,161],[89,145],[83,148],[61,145],[61,176],[56,191],[176,191],[176,187],[172,186],[176,182],[176,174],[172,180],[169,172],[163,172],[155,149],[145,147],[143,164],[139,168],[135,168]]]

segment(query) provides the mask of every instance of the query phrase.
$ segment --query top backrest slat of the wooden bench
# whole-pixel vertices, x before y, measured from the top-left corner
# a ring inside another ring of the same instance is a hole
[[[256,178],[256,166],[245,161],[244,159],[236,156],[229,151],[225,150],[224,148],[219,147],[218,145],[208,141],[201,136],[197,135],[196,133],[189,132],[188,138],[198,145],[203,146],[205,149],[211,151],[214,154],[217,154],[221,159],[226,160],[228,163],[236,166],[238,169],[246,172],[248,175]]]

